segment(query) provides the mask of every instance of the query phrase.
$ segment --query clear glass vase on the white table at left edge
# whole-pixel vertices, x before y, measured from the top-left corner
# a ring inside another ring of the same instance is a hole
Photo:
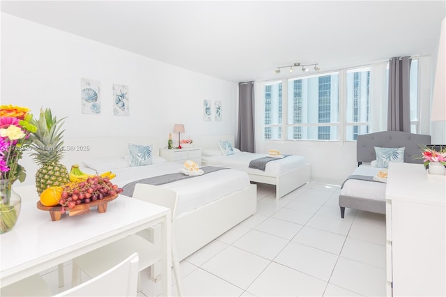
[[[20,215],[22,198],[13,190],[13,182],[0,180],[0,234],[13,229]]]

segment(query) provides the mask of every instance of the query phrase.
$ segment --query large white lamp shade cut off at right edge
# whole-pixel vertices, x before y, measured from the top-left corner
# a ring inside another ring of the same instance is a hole
[[[440,41],[438,44],[437,68],[433,85],[431,121],[446,121],[446,29],[445,20],[441,22]]]

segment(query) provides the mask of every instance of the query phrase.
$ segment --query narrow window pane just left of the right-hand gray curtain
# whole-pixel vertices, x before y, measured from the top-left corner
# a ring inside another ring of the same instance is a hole
[[[370,68],[346,71],[346,135],[348,141],[369,133]]]

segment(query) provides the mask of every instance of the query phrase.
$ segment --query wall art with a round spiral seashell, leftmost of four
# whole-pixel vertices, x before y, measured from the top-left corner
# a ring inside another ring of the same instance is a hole
[[[100,82],[93,79],[81,79],[82,114],[100,114]]]

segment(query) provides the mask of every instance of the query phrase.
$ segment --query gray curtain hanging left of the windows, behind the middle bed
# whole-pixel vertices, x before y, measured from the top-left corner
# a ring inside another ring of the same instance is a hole
[[[236,148],[254,153],[254,82],[238,83]]]

